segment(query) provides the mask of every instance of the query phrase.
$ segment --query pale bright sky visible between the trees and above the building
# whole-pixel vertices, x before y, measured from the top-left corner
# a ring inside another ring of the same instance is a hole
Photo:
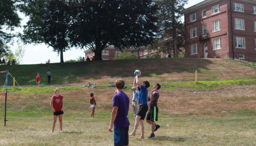
[[[204,0],[189,0],[188,4],[185,5],[185,8],[191,7],[202,1]],[[19,13],[19,16],[22,18],[21,26],[26,25],[28,18],[25,17],[23,13]],[[183,17],[183,21],[184,21],[184,17]],[[18,32],[22,33],[22,30],[23,28],[15,28],[13,33],[18,33]],[[15,41],[13,45],[8,44],[8,46],[10,46],[10,50],[12,50],[14,53],[18,45]],[[59,63],[61,60],[57,52],[53,52],[52,48],[47,47],[47,45],[45,45],[44,43],[40,45],[33,45],[33,44],[24,45],[24,47],[26,51],[20,64],[40,64],[40,63],[45,63],[48,59],[51,60],[51,63]],[[71,50],[67,50],[66,52],[63,53],[64,61],[71,60],[71,59],[76,60],[76,58],[78,58],[79,56],[82,56],[82,57],[85,56],[84,50],[80,50],[80,49],[76,50],[75,48],[71,48]]]

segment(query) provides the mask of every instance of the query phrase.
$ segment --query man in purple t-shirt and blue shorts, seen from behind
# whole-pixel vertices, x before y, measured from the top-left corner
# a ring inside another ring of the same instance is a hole
[[[111,113],[110,126],[108,131],[113,132],[114,124],[114,146],[128,146],[129,120],[127,118],[129,110],[129,97],[123,92],[125,80],[115,81],[117,93],[113,97],[113,110]]]

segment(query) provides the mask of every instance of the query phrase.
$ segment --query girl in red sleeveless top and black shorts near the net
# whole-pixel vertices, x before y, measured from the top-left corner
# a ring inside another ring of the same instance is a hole
[[[63,116],[63,96],[60,95],[60,88],[54,89],[55,95],[51,97],[51,108],[53,110],[54,115],[54,122],[52,124],[52,131],[54,132],[55,124],[57,122],[57,117],[59,116],[60,126],[61,126],[61,132],[62,132],[62,116]]]

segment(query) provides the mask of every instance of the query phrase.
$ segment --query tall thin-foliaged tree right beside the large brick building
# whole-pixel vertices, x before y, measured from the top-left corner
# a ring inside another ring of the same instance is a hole
[[[184,23],[182,23],[182,10],[188,0],[156,0],[160,10],[158,17],[158,33],[151,49],[158,49],[158,52],[167,53],[171,51],[174,57],[182,52],[184,46]]]

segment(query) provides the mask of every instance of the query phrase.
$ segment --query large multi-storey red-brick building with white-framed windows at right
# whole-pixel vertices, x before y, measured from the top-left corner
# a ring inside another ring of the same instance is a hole
[[[256,58],[256,0],[204,0],[182,13],[185,57]]]

